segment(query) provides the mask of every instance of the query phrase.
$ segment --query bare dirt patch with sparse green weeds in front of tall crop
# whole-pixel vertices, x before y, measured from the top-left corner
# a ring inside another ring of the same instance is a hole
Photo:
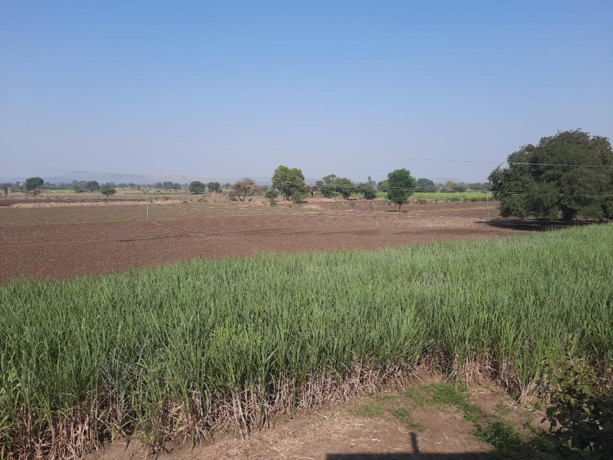
[[[500,389],[455,390],[429,383],[280,420],[248,439],[169,446],[159,460],[406,460],[549,458],[539,451],[542,415],[518,407]],[[116,443],[89,460],[144,458],[135,443]]]

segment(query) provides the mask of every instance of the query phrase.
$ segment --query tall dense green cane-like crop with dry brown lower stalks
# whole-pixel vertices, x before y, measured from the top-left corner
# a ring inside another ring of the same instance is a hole
[[[602,225],[13,282],[0,289],[0,442],[71,456],[115,435],[246,431],[419,364],[527,394],[566,343],[604,376],[612,273]]]

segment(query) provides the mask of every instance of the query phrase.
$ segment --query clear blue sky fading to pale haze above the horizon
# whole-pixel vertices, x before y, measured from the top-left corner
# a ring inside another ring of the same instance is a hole
[[[11,128],[501,161],[557,130],[613,137],[611,0],[5,0],[0,53]],[[2,132],[0,161],[203,178],[492,169]],[[0,176],[30,172],[58,175]]]

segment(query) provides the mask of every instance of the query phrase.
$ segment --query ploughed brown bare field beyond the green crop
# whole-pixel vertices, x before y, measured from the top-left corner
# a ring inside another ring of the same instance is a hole
[[[485,223],[485,202],[265,202],[0,208],[0,282],[70,278],[191,258],[381,248],[433,240],[503,237],[529,226]],[[490,202],[490,215],[497,217]]]

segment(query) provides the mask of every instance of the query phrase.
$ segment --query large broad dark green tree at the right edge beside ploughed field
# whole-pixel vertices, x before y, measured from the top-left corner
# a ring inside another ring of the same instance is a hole
[[[572,221],[613,217],[613,151],[579,129],[543,137],[508,156],[489,180],[502,217]],[[563,166],[556,166],[563,165]]]

